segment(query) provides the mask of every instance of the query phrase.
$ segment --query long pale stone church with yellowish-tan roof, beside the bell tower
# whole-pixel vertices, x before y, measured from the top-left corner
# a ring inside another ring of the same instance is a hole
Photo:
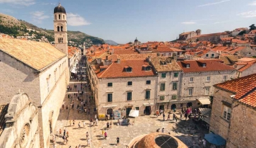
[[[0,104],[26,92],[38,108],[40,147],[49,147],[69,83],[67,55],[45,42],[0,38]]]

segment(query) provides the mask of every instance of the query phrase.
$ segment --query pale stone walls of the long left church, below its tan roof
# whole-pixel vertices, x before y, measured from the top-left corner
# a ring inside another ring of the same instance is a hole
[[[50,126],[55,127],[69,83],[68,59],[63,57],[39,74],[17,59],[0,52],[0,103],[9,103],[11,95],[26,92],[38,106],[40,147],[49,147]],[[49,126],[50,125],[50,126]]]

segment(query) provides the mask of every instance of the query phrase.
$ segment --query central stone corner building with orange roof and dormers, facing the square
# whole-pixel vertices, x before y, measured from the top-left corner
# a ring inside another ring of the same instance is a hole
[[[140,115],[150,114],[155,108],[157,76],[145,59],[105,59],[99,71],[90,72],[92,90],[98,108],[99,118],[106,114],[122,111],[128,115],[131,109]],[[115,115],[115,114],[114,114]]]

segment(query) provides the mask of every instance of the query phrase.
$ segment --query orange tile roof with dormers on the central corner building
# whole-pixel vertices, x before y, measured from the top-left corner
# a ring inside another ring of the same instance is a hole
[[[120,63],[113,62],[97,76],[99,78],[118,78],[118,77],[138,77],[138,76],[155,76],[152,69],[143,70],[143,65],[150,65],[145,59],[121,60]],[[132,72],[126,72],[125,67],[132,67]]]

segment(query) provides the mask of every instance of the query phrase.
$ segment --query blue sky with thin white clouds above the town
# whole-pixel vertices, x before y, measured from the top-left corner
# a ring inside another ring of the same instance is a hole
[[[118,43],[169,41],[184,31],[217,33],[256,23],[256,0],[0,0],[0,13],[52,29],[59,2],[68,30]]]

